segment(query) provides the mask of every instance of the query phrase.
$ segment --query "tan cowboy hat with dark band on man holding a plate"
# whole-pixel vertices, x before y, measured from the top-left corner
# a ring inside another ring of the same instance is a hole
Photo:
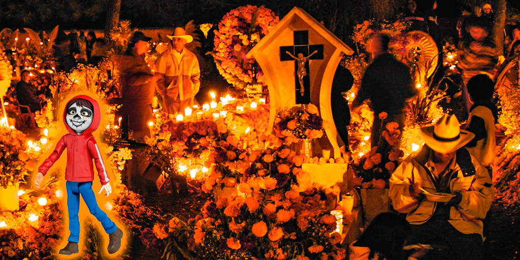
[[[432,150],[450,153],[466,145],[475,134],[460,129],[456,116],[444,114],[435,125],[421,127],[421,136]]]

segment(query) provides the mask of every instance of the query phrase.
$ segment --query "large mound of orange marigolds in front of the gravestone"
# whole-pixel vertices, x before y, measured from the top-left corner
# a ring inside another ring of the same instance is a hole
[[[215,142],[207,162],[211,174],[202,186],[215,198],[194,218],[169,220],[165,254],[180,259],[346,257],[330,214],[336,193],[301,188],[301,155],[275,136],[260,139],[265,149],[245,149],[233,135]],[[161,240],[162,232],[154,233]]]

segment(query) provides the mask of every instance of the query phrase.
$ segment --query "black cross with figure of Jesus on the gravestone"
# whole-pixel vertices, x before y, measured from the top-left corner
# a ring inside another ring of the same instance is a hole
[[[280,60],[294,60],[296,103],[307,104],[310,103],[308,60],[322,60],[323,45],[309,45],[309,31],[294,31],[293,35],[293,46],[280,46]]]

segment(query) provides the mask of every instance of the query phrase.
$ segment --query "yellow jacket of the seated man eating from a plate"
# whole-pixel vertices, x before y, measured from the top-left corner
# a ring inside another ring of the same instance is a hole
[[[436,183],[427,166],[431,153],[432,150],[424,145],[418,152],[410,154],[390,178],[388,197],[396,211],[407,213],[406,219],[412,225],[427,222],[437,206],[437,202],[428,201],[424,197],[412,198],[409,192],[412,174],[415,183],[419,183],[426,191],[436,192]],[[448,222],[461,233],[478,233],[482,236],[482,219],[486,217],[495,196],[491,178],[486,168],[465,148],[460,148],[453,160],[449,166],[453,170],[449,187],[451,191],[462,194],[462,201],[450,208]]]

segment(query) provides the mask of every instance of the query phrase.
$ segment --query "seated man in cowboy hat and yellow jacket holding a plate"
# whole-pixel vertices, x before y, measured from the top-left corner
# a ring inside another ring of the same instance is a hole
[[[449,259],[481,259],[482,219],[494,193],[486,168],[464,148],[475,135],[460,129],[457,118],[448,114],[421,128],[421,135],[425,145],[396,168],[388,192],[394,209],[406,213],[412,224],[407,241],[445,243]],[[454,196],[438,202],[421,192]]]

